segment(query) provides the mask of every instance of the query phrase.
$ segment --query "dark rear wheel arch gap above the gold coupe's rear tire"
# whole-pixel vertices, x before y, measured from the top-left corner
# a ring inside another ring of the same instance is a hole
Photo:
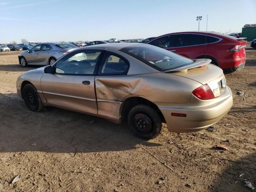
[[[153,102],[151,102],[150,100],[147,100],[142,97],[130,97],[130,98],[127,98],[126,100],[124,100],[124,102],[122,103],[122,106],[120,108],[121,120],[126,121],[130,110],[134,106],[141,105],[141,104],[147,105],[147,106],[150,106],[151,108],[153,108],[160,116],[162,122],[166,123],[164,115],[162,114],[162,112],[160,111],[158,106],[156,104],[154,104]]]

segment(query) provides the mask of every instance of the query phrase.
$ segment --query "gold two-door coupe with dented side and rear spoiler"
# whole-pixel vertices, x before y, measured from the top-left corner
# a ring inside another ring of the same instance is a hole
[[[17,92],[32,111],[56,106],[116,123],[128,121],[141,138],[209,128],[228,113],[232,92],[222,69],[162,48],[115,43],[74,50],[30,70]]]

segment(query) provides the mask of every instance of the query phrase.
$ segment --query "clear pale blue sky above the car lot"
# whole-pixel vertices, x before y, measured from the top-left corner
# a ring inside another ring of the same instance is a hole
[[[0,43],[148,38],[200,30],[241,32],[256,0],[0,0]]]

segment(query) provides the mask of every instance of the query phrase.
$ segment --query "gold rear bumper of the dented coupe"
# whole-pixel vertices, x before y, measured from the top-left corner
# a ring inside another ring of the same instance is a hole
[[[192,100],[198,100],[194,95],[192,97]],[[181,133],[196,132],[210,127],[229,112],[232,104],[232,92],[227,86],[222,90],[221,96],[206,102],[157,105],[164,115],[168,130]],[[171,116],[171,113],[186,114],[186,117]]]

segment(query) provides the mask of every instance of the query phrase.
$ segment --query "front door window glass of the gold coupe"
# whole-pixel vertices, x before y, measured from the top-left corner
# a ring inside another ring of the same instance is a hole
[[[57,74],[94,74],[100,50],[83,50],[64,56],[55,65]]]

